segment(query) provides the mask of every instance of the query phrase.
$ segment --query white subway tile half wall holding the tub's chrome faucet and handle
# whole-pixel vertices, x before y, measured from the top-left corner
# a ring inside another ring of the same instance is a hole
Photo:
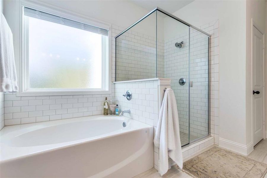
[[[127,90],[133,93],[130,101],[122,96]],[[115,83],[115,97],[120,110],[131,110],[125,116],[152,126],[158,120],[158,80]]]

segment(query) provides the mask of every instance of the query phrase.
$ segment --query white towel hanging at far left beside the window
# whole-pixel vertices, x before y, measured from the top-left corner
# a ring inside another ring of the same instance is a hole
[[[17,92],[17,72],[13,36],[4,15],[0,14],[0,92]]]

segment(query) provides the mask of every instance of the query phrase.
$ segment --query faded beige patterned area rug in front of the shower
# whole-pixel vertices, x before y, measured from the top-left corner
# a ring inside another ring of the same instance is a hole
[[[183,171],[196,178],[263,178],[267,164],[213,147],[186,161]]]

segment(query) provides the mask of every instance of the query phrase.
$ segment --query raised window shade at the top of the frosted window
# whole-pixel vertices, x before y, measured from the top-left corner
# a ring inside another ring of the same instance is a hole
[[[24,15],[108,36],[108,30],[24,7]]]

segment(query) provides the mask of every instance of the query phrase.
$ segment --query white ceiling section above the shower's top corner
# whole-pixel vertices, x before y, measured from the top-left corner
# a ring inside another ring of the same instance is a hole
[[[174,13],[194,0],[130,0],[132,3],[152,11],[156,7]]]

